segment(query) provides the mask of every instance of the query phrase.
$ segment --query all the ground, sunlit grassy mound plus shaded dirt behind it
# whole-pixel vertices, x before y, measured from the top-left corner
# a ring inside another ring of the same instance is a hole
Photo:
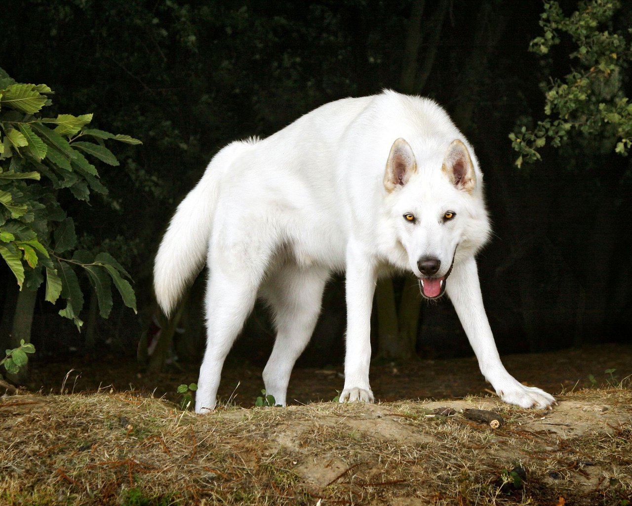
[[[466,358],[372,366],[374,405],[317,402],[341,371],[296,369],[293,405],[255,408],[261,369],[233,363],[199,416],[172,402],[197,365],[35,361],[0,397],[0,505],[629,506],[632,345],[503,360],[559,405],[499,402]]]

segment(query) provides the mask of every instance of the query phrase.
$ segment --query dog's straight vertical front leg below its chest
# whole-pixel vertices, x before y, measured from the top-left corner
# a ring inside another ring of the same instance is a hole
[[[371,310],[377,269],[358,244],[347,248],[346,302],[347,336],[344,357],[344,389],[340,402],[373,402],[368,385],[371,361]]]

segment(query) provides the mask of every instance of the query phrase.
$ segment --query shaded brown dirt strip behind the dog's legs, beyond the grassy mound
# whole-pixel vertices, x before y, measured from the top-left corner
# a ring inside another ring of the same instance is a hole
[[[526,385],[539,386],[553,395],[586,386],[609,385],[632,375],[632,344],[605,344],[583,349],[543,354],[516,354],[502,357],[509,373]],[[231,362],[224,366],[219,397],[242,407],[252,407],[264,388],[262,367]],[[605,371],[614,369],[612,373]],[[69,371],[72,372],[70,374]],[[146,374],[133,362],[116,357],[86,361],[75,357],[63,363],[32,362],[33,392],[59,393],[64,378],[70,392],[94,391],[112,385],[115,390],[154,392],[176,400],[181,383],[197,382],[198,364],[167,366],[164,373]],[[288,404],[332,400],[343,388],[342,366],[327,369],[295,368],[289,383]],[[593,380],[589,379],[592,375]],[[372,365],[371,386],[377,400],[461,398],[487,395],[485,383],[474,357],[420,360],[410,364]]]

